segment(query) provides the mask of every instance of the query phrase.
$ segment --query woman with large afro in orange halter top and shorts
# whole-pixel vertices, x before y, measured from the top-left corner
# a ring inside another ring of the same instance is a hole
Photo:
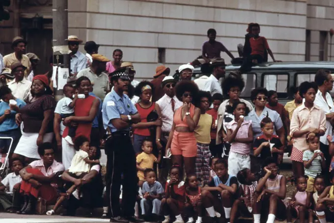
[[[197,144],[194,131],[200,117],[200,109],[194,104],[198,92],[198,87],[193,81],[181,81],[176,84],[175,95],[183,102],[183,106],[174,113],[166,146],[166,150],[170,148],[173,164],[177,163],[183,167],[184,163],[187,175],[195,173]]]

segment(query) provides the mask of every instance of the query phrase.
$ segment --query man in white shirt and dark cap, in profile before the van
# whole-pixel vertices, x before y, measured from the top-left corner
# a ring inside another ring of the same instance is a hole
[[[225,61],[223,58],[214,58],[211,62],[211,67],[213,68],[213,73],[207,79],[204,86],[204,91],[209,91],[211,95],[215,93],[223,94],[221,84],[219,79],[225,76]]]

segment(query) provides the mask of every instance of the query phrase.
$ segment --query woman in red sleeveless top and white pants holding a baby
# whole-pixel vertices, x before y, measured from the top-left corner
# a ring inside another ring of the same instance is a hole
[[[67,117],[63,121],[64,125],[67,126],[62,135],[62,161],[65,168],[70,167],[72,158],[75,155],[73,145],[64,139],[68,135],[68,126],[77,124],[76,136],[85,136],[87,139],[90,139],[92,121],[96,116],[100,104],[97,98],[89,95],[91,82],[87,77],[78,78],[76,86],[79,94],[84,94],[84,98],[77,99],[74,105],[75,116]]]

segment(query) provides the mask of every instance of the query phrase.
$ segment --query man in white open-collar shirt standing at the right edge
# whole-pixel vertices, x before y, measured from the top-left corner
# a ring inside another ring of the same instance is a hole
[[[331,156],[329,154],[328,135],[333,135],[334,123],[334,105],[333,99],[329,91],[333,89],[333,77],[329,70],[318,70],[314,77],[314,82],[318,85],[318,92],[315,95],[314,105],[317,105],[326,113],[326,132],[320,137],[320,150],[324,153],[326,159],[326,173],[328,173],[331,164]],[[324,171],[325,172],[325,171]]]

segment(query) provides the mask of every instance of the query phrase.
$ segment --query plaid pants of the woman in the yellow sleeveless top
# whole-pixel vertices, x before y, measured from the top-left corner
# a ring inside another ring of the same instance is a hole
[[[197,156],[195,161],[195,173],[199,180],[204,181],[204,185],[209,183],[210,178],[210,144],[197,142]]]

